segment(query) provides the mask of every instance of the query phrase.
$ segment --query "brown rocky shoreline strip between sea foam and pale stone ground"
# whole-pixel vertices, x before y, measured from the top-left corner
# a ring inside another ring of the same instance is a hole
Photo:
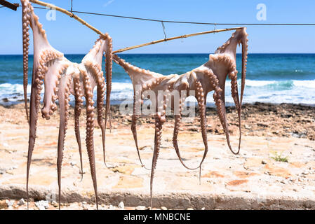
[[[9,112],[8,112],[9,111]],[[23,104],[11,106],[0,106],[1,122],[11,122],[3,120],[5,114],[14,115],[17,120],[13,123],[25,122],[25,111]],[[84,122],[85,109],[82,110],[81,120]],[[196,110],[196,118],[189,119],[187,123],[183,121],[182,130],[199,132],[199,117]],[[71,107],[69,119],[74,119],[74,111]],[[40,116],[40,115],[39,115]],[[208,129],[211,134],[224,134],[217,111],[213,107],[206,109]],[[130,115],[121,115],[119,105],[111,106],[112,127],[123,127],[131,123]],[[58,119],[58,113],[54,113],[53,119]],[[43,120],[40,118],[40,120]],[[96,120],[96,119],[95,119]],[[168,125],[174,122],[173,116],[168,116]],[[227,106],[227,120],[229,123],[229,132],[232,135],[239,134],[239,124],[237,113],[234,106]],[[153,116],[142,116],[138,120],[138,125],[154,125]],[[95,123],[96,125],[96,123]],[[109,127],[109,126],[108,126]],[[301,104],[243,104],[242,106],[242,135],[245,136],[263,136],[263,137],[298,137],[315,140],[315,107],[304,106]]]

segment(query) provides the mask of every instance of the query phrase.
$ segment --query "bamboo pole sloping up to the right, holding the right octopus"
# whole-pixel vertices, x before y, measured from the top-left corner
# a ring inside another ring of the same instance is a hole
[[[179,38],[187,38],[187,37],[198,36],[198,35],[203,35],[203,34],[220,33],[220,32],[223,32],[223,31],[236,30],[236,29],[241,29],[241,28],[242,27],[227,28],[227,29],[215,29],[215,30],[203,31],[203,32],[194,33],[194,34],[186,34],[186,35],[182,35],[182,36],[173,36],[173,37],[164,38],[164,39],[161,39],[161,40],[158,40],[158,41],[152,41],[152,42],[148,42],[148,43],[142,43],[140,45],[134,45],[134,46],[128,47],[128,48],[122,48],[122,49],[114,51],[113,54],[116,54],[116,53],[119,53],[119,52],[123,52],[123,51],[126,51],[126,50],[132,50],[132,49],[135,49],[135,48],[142,48],[142,47],[145,47],[147,45],[161,43],[161,42],[164,42],[164,41],[173,41],[173,40],[179,39]]]

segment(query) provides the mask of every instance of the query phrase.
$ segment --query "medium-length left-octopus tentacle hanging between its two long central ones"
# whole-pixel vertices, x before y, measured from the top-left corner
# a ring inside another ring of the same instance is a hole
[[[81,83],[79,78],[73,79],[74,83],[74,132],[76,134],[76,143],[79,146],[80,154],[80,165],[81,165],[81,181],[83,179],[83,162],[82,162],[82,147],[81,147],[81,136],[80,136],[80,115],[81,108],[83,106]]]

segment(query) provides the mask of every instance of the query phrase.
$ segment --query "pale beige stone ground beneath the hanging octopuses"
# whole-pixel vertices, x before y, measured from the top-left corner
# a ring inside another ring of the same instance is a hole
[[[221,129],[215,131],[219,121],[210,110],[208,130],[213,132],[208,131],[209,152],[203,162],[201,184],[199,184],[199,170],[187,170],[177,159],[172,144],[173,120],[163,125],[161,152],[154,178],[154,207],[158,209],[161,207],[315,209],[315,141],[311,140],[314,126],[312,126],[313,130],[309,130],[309,127],[315,123],[314,109],[309,109],[312,111],[307,113],[309,116],[305,113],[297,116],[296,113],[288,112],[290,110],[292,112],[292,107],[286,110],[283,107],[276,107],[275,110],[282,110],[279,113],[283,116],[280,114],[277,116],[273,110],[267,110],[269,116],[268,114],[257,116],[256,123],[253,114],[250,111],[245,112],[247,114],[243,125],[247,127],[243,127],[245,136],[242,137],[239,155],[233,155],[229,151]],[[28,141],[25,112],[20,104],[11,108],[0,107],[0,112],[0,199],[2,199],[0,209],[25,209],[25,204],[21,203],[22,205],[18,206],[19,200],[25,198]],[[73,116],[73,112],[70,116]],[[228,116],[236,117],[235,111]],[[295,124],[296,120],[300,122]],[[307,121],[303,123],[302,120]],[[138,125],[140,153],[146,167],[150,167],[152,162],[154,141],[152,122],[152,119],[147,118],[140,120],[142,125]],[[149,207],[150,171],[142,168],[138,161],[130,132],[130,116],[120,118],[113,115],[112,123],[112,132],[108,131],[106,136],[107,165],[112,168],[107,169],[102,161],[99,128],[95,128],[94,135],[101,208],[119,209],[119,202],[123,202],[123,209],[135,209],[138,206],[144,206],[138,209],[145,209]],[[237,130],[237,123],[236,120],[230,123],[232,123],[233,134],[232,146],[236,149],[238,137],[237,132],[234,134],[234,130]],[[285,132],[288,124],[294,127],[290,127],[290,130]],[[270,129],[272,125],[275,125],[274,130]],[[93,184],[84,144],[84,116],[81,117],[85,172],[82,181],[79,174],[79,153],[74,136],[73,119],[69,120],[68,127],[65,157],[62,163],[62,209],[93,209],[95,208]],[[260,130],[255,130],[253,127]],[[293,128],[300,132],[292,131]],[[257,134],[258,132],[260,134]],[[58,192],[56,172],[58,115],[55,114],[51,120],[40,118],[37,133],[38,138],[30,169],[30,195],[35,202],[56,201],[58,200],[55,195]],[[286,137],[286,134],[290,137]],[[203,144],[196,120],[187,118],[178,139],[185,162],[189,167],[196,167],[203,155]],[[6,199],[15,201],[6,201]],[[37,206],[34,202],[31,203],[32,209],[43,208],[40,206],[39,202]],[[56,209],[55,202],[48,203],[46,209]]]

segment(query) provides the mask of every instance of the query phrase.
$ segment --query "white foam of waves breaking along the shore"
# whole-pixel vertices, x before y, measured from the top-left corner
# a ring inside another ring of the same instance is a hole
[[[240,90],[241,80],[238,80],[238,84]],[[31,86],[27,85],[28,96],[30,91]],[[226,82],[225,96],[227,104],[234,103],[229,79]],[[0,84],[0,104],[4,103],[4,98],[7,98],[9,102],[21,101],[23,85]],[[94,98],[96,98],[96,88]],[[112,83],[111,100],[121,102],[126,99],[133,99],[132,83]],[[195,101],[192,97],[189,97],[189,100]],[[213,103],[213,93],[208,94],[207,102]],[[315,104],[315,80],[246,80],[243,102]]]

